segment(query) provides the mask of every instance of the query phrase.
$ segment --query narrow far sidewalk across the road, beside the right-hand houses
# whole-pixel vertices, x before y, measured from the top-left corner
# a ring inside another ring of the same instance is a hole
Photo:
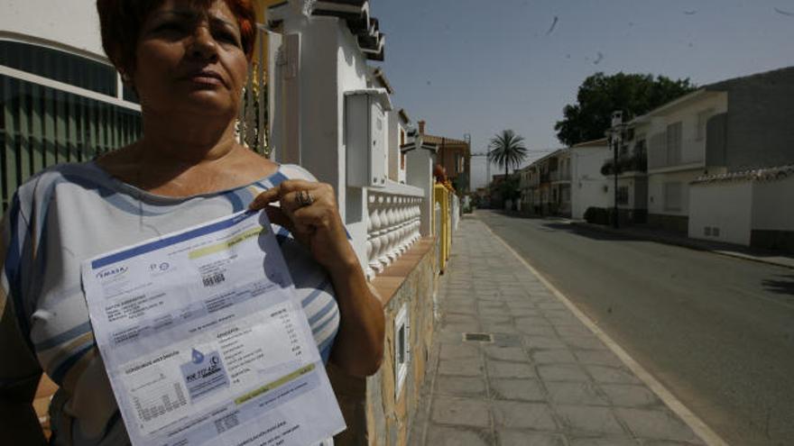
[[[611,226],[605,226],[603,224],[577,222],[575,220],[568,219],[565,219],[565,221],[578,228],[592,229],[594,231],[607,232],[616,235],[622,235],[624,237],[633,237],[648,241],[658,241],[660,243],[682,246],[692,250],[706,250],[716,254],[722,254],[724,256],[735,257],[737,259],[758,261],[770,265],[794,269],[794,257],[780,254],[780,252],[757,250],[720,241],[690,239],[689,237],[678,233],[656,231],[636,226],[614,229]]]

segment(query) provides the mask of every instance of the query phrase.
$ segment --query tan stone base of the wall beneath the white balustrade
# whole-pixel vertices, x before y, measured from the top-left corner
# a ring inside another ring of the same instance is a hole
[[[436,245],[433,238],[418,241],[372,284],[383,299],[386,319],[383,364],[368,378],[346,375],[328,367],[328,378],[345,416],[347,429],[334,437],[337,446],[397,446],[407,442],[420,389],[425,377],[435,327],[433,295],[438,284]],[[395,319],[405,308],[410,345],[407,373],[397,392]]]

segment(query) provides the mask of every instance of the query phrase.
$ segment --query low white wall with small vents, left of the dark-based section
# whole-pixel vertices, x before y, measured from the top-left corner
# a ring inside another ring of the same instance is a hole
[[[689,230],[693,239],[750,245],[753,185],[750,181],[697,184],[689,188]],[[705,228],[718,228],[706,236]]]

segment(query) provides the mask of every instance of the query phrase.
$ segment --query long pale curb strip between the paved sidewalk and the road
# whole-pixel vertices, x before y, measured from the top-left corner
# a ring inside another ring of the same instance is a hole
[[[696,414],[693,414],[692,411],[690,411],[686,405],[684,405],[679,401],[679,398],[674,396],[667,389],[667,387],[664,387],[656,378],[653,378],[650,372],[644,369],[639,362],[634,360],[626,350],[623,350],[623,348],[617,344],[617,342],[613,341],[608,334],[606,334],[603,330],[601,330],[598,327],[598,325],[596,325],[593,322],[593,320],[591,320],[586,314],[579,311],[577,306],[574,305],[573,302],[571,302],[567,296],[562,294],[562,292],[559,291],[557,287],[552,285],[551,282],[549,282],[549,280],[547,280],[545,277],[543,277],[543,275],[540,274],[540,271],[532,267],[531,264],[527,260],[525,260],[521,256],[521,254],[516,252],[516,250],[513,250],[512,247],[508,245],[507,242],[504,241],[502,237],[496,235],[496,233],[485,222],[482,223],[485,225],[485,229],[487,229],[488,232],[491,232],[491,234],[494,235],[494,237],[496,237],[496,240],[500,241],[504,245],[504,247],[507,248],[507,250],[512,252],[512,255],[515,256],[516,259],[519,259],[519,261],[522,262],[523,266],[526,269],[529,269],[532,274],[534,274],[538,279],[540,279],[540,282],[545,287],[549,288],[551,294],[557,297],[560,302],[562,302],[565,306],[568,307],[568,310],[570,310],[571,313],[577,316],[579,322],[584,323],[585,326],[588,329],[590,329],[590,331],[593,332],[599,340],[605,343],[606,347],[608,347],[609,350],[612,350],[612,352],[618,358],[620,358],[620,360],[623,361],[623,364],[625,364],[626,367],[632,370],[632,372],[634,373],[634,375],[637,376],[637,378],[640,378],[642,382],[645,383],[646,386],[651,388],[651,391],[655,393],[656,396],[659,396],[661,401],[665,405],[667,405],[671,411],[679,415],[679,417],[684,421],[684,423],[687,423],[689,428],[691,428],[692,431],[695,432],[695,434],[698,437],[700,437],[701,440],[705,441],[706,444],[708,444],[709,446],[728,446],[728,443],[725,442],[725,440],[720,438],[720,436],[717,435],[716,432],[712,431],[711,428],[708,427],[708,425],[706,425],[706,423],[704,423],[703,420],[698,418]]]

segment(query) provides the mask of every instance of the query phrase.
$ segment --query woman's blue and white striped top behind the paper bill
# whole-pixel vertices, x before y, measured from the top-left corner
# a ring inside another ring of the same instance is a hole
[[[173,198],[109,176],[96,163],[64,164],[20,187],[0,237],[0,398],[32,397],[45,371],[60,389],[51,403],[55,444],[126,444],[124,423],[88,322],[80,263],[154,236],[245,210],[287,178],[282,165],[245,187]],[[273,225],[323,360],[339,312],[328,274],[290,232]]]

